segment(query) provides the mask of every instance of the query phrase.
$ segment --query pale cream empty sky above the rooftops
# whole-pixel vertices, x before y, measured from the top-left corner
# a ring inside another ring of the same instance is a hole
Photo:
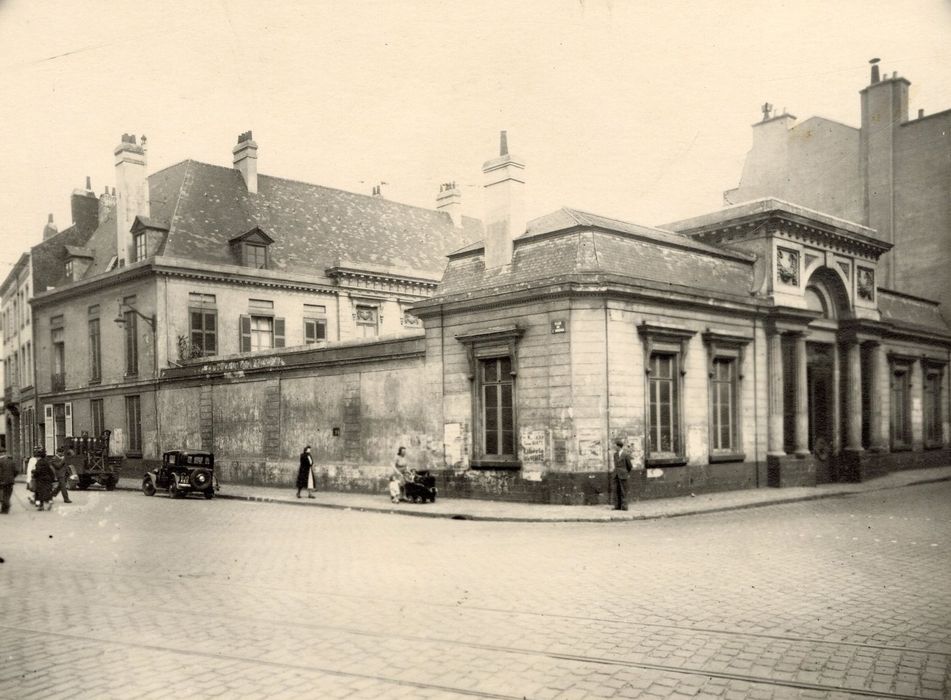
[[[481,216],[507,129],[530,217],[657,224],[720,206],[764,101],[857,126],[873,56],[951,108],[951,2],[0,0],[0,278],[123,132],[150,172],[252,129],[259,172],[428,207],[456,180]]]

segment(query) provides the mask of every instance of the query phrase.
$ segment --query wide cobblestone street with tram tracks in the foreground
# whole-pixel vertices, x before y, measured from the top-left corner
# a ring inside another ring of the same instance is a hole
[[[951,688],[948,482],[623,523],[24,494],[0,521],[0,697]]]

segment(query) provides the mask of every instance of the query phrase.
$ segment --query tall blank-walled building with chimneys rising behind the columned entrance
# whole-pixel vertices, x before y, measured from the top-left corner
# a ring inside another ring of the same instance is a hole
[[[909,118],[911,83],[873,59],[861,126],[790,114],[753,125],[753,147],[726,204],[776,197],[863,224],[895,247],[880,284],[936,299],[951,318],[951,109]]]

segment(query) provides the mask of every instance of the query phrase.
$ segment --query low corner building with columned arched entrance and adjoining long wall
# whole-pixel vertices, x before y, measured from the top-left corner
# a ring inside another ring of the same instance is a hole
[[[873,230],[775,199],[526,223],[523,163],[503,142],[484,170],[485,240],[414,304],[421,334],[166,370],[176,439],[267,483],[312,444],[326,487],[371,491],[406,445],[443,494],[579,504],[608,500],[616,438],[639,498],[951,458],[951,330],[878,284]]]

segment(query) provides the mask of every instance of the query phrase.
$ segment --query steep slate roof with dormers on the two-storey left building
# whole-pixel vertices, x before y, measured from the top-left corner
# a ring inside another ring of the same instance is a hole
[[[155,254],[210,267],[238,266],[230,242],[254,228],[273,239],[267,273],[307,275],[329,283],[325,271],[350,267],[438,280],[446,255],[482,236],[477,219],[455,228],[449,214],[295,180],[258,175],[258,191],[247,191],[237,170],[193,160],[149,176],[147,223],[162,231]],[[144,220],[144,219],[143,219]],[[107,272],[116,256],[114,210],[86,239],[45,241],[55,249],[55,273],[48,284],[64,283],[63,244],[93,254],[84,278]],[[37,291],[42,291],[38,289]]]

